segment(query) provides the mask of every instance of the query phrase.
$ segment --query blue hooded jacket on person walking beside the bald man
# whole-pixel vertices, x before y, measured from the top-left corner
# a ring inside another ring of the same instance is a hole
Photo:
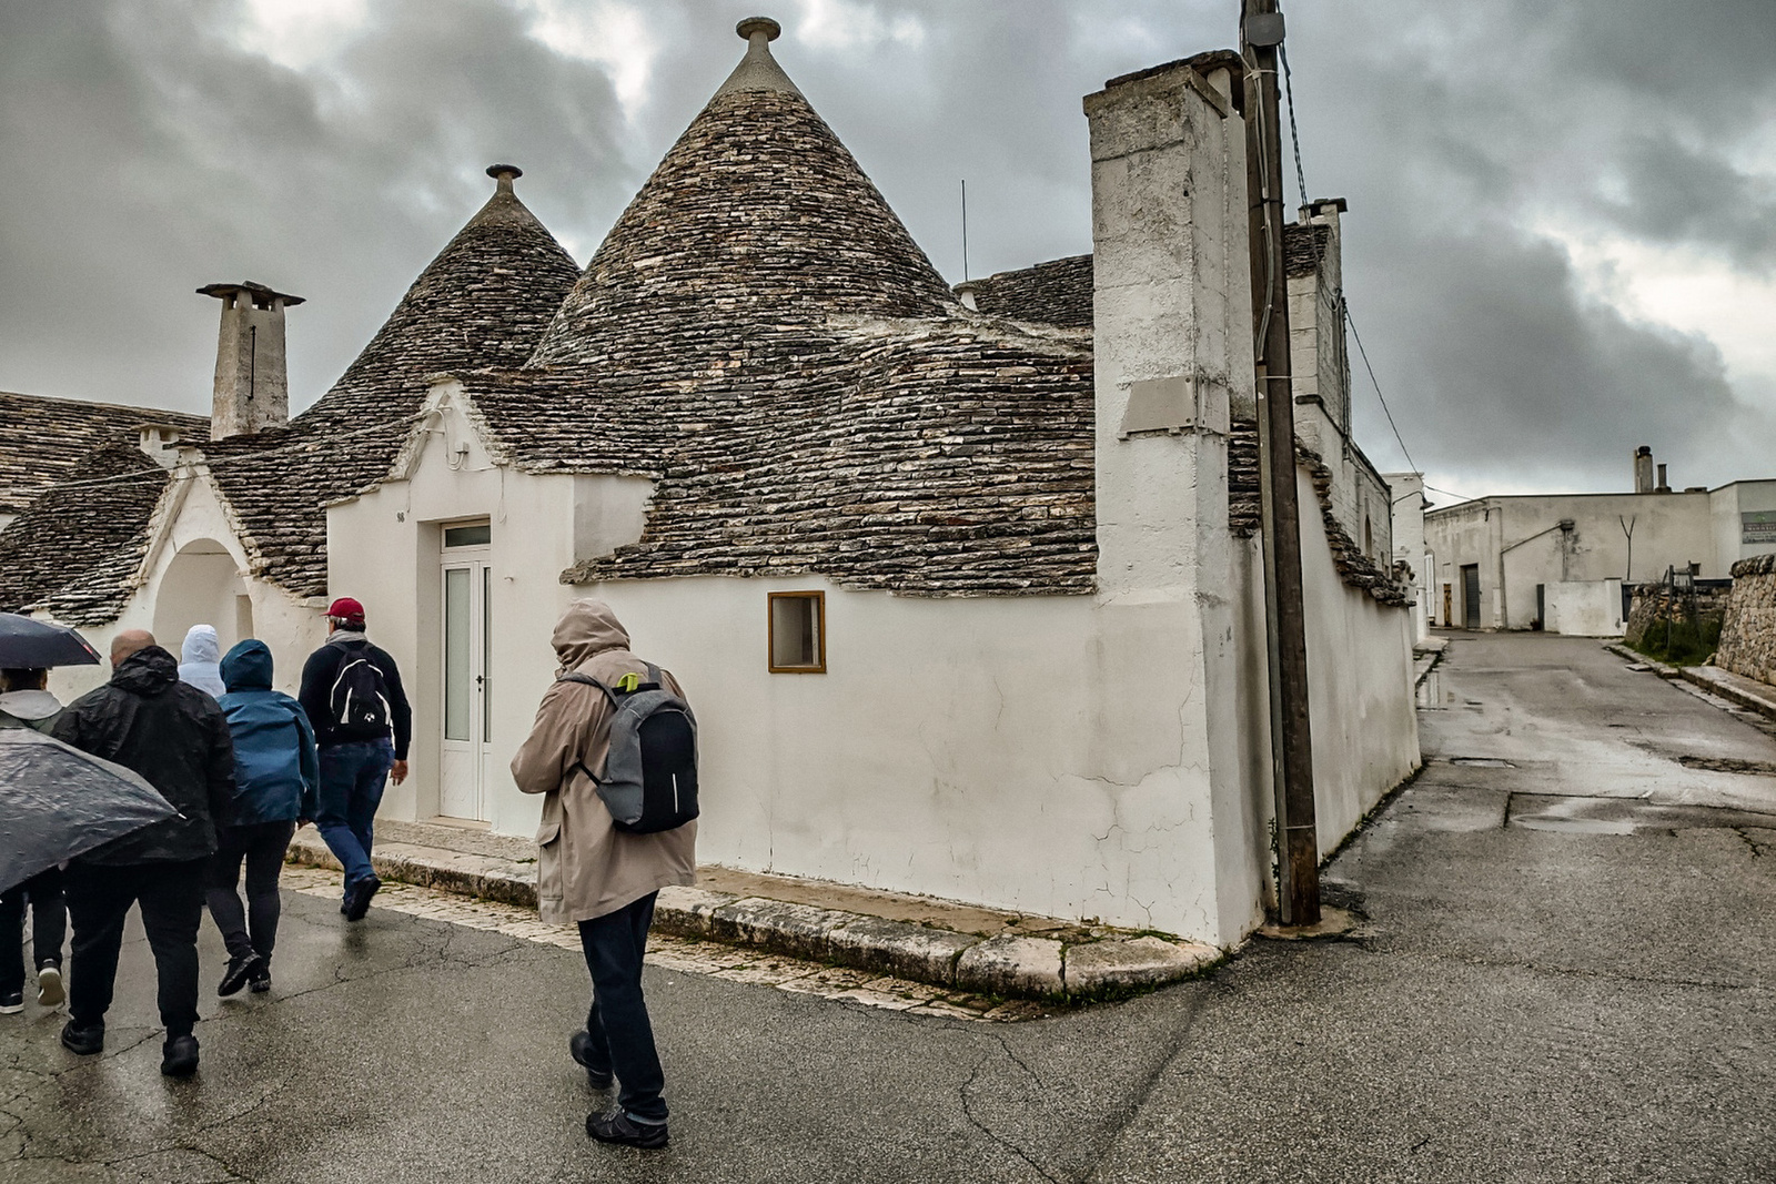
[[[272,691],[272,651],[249,637],[222,659],[217,703],[234,737],[234,825],[313,818],[318,811],[320,760],[307,712]]]

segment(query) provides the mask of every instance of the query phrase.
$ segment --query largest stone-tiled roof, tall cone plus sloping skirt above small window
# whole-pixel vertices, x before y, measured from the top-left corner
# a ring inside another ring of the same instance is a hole
[[[655,478],[570,582],[1094,588],[1090,350],[966,314],[757,39],[531,362],[465,387],[526,470]]]

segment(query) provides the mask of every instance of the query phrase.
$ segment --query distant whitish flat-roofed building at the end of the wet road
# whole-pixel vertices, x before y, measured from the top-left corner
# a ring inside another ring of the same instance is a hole
[[[1739,559],[1776,549],[1776,479],[1673,490],[1643,446],[1634,485],[1632,493],[1479,497],[1426,513],[1433,620],[1620,634],[1623,586],[1669,568],[1728,579]]]

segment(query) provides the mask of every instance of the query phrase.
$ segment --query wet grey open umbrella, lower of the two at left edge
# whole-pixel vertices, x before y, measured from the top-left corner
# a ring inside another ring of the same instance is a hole
[[[0,728],[0,891],[178,815],[123,765],[32,728]]]

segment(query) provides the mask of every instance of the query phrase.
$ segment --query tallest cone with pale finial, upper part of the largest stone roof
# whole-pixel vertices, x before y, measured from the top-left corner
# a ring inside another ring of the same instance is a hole
[[[748,51],[586,266],[533,366],[611,362],[686,318],[773,325],[931,318],[955,304],[931,259],[771,57]]]

